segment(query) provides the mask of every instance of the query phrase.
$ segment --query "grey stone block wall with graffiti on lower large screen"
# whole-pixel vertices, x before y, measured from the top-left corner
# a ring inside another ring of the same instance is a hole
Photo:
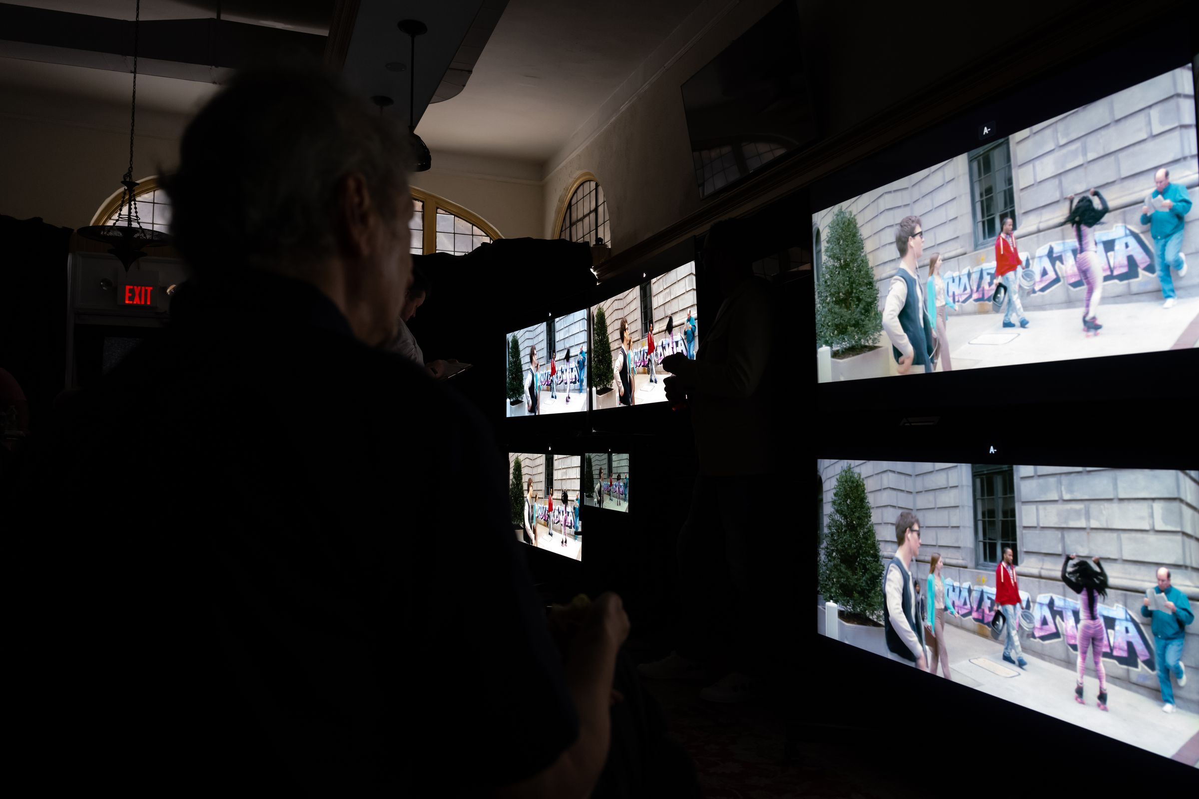
[[[899,513],[920,517],[914,576],[923,586],[930,556],[945,558],[946,601],[957,611],[950,623],[988,635],[995,565],[1002,547],[1013,547],[1022,599],[1036,619],[1024,635],[1025,654],[1073,667],[1078,597],[1061,582],[1062,559],[1099,556],[1110,580],[1101,609],[1108,679],[1159,696],[1141,599],[1167,565],[1199,609],[1199,471],[821,460],[821,537],[845,467],[866,482],[884,561],[897,549]],[[1199,622],[1187,628],[1182,660],[1199,668]],[[1175,688],[1175,700],[1199,712],[1199,683]]]

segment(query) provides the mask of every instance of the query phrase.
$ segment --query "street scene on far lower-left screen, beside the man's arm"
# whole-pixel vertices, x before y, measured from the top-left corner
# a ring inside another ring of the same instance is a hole
[[[517,540],[583,559],[580,455],[508,453],[510,500]]]

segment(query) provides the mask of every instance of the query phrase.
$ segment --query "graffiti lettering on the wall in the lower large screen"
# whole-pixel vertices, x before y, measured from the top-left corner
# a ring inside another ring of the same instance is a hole
[[[995,606],[995,589],[990,586],[971,586],[945,580],[945,604],[962,618],[972,618],[981,624],[990,624],[999,609]],[[1032,611],[1032,637],[1042,643],[1065,638],[1066,646],[1078,652],[1078,623],[1080,609],[1077,600],[1058,594],[1041,594],[1036,604],[1030,595],[1020,592],[1020,605]],[[1099,605],[1099,616],[1107,628],[1103,656],[1128,668],[1157,670],[1153,648],[1149,646],[1145,630],[1123,605]]]

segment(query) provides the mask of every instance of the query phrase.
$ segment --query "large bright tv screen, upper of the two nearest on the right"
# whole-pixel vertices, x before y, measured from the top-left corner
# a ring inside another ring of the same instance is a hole
[[[820,380],[1194,346],[1195,152],[1187,65],[817,212]]]

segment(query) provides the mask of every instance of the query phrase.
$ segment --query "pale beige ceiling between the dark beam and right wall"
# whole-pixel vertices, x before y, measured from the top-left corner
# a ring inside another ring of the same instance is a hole
[[[700,5],[510,0],[466,87],[416,132],[434,153],[544,163]]]

